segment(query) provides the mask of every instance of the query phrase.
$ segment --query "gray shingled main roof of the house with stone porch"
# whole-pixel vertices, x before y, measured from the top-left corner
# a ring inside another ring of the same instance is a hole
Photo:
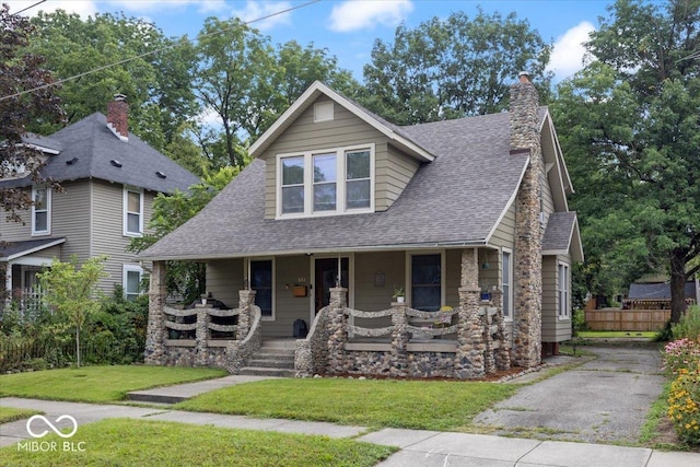
[[[483,244],[527,157],[510,154],[509,115],[401,127],[435,160],[386,211],[266,220],[265,162],[255,160],[198,215],[140,256],[217,258],[363,248]]]

